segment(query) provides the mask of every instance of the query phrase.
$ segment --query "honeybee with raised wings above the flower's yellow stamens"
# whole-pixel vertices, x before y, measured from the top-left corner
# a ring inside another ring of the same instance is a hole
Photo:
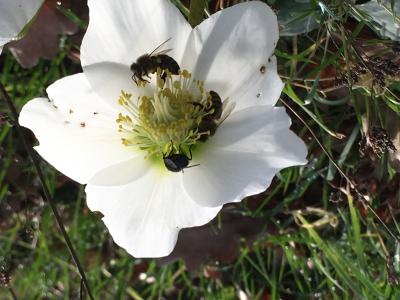
[[[131,71],[133,73],[132,79],[138,84],[138,82],[149,82],[147,79],[143,78],[146,76],[150,79],[149,74],[157,72],[157,68],[163,71],[168,70],[174,75],[179,74],[180,67],[178,63],[171,56],[166,53],[170,52],[172,49],[165,49],[158,51],[163,45],[165,45],[171,38],[157,46],[150,54],[143,54],[136,59],[136,62],[131,64]],[[163,80],[167,73],[164,72],[161,76]]]

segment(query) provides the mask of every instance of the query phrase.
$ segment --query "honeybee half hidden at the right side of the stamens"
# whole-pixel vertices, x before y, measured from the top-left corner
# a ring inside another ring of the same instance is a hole
[[[210,136],[213,136],[217,131],[218,126],[226,120],[235,108],[235,103],[230,102],[229,99],[222,102],[221,97],[214,91],[210,91],[211,107],[210,114],[203,117],[199,126],[197,127],[200,133],[200,142],[205,142]]]

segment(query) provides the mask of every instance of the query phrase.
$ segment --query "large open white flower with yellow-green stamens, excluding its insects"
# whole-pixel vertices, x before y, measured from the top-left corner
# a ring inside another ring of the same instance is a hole
[[[168,255],[181,228],[209,222],[225,203],[264,191],[279,170],[306,163],[285,110],[273,107],[283,84],[267,5],[235,5],[193,30],[167,0],[89,0],[89,8],[84,73],[51,85],[51,101],[28,102],[20,122],[40,155],[87,184],[89,208],[130,254]],[[165,41],[181,75],[163,82],[158,69],[136,85],[131,64]],[[215,111],[210,91],[236,106],[200,142],[199,122]],[[188,158],[191,150],[193,167],[167,170],[163,153]]]

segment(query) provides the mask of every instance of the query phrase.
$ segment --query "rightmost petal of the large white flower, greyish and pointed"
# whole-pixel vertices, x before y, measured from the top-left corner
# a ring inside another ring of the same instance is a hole
[[[231,115],[194,153],[183,183],[200,205],[219,206],[264,191],[275,174],[306,163],[304,143],[289,130],[283,108],[258,106]]]

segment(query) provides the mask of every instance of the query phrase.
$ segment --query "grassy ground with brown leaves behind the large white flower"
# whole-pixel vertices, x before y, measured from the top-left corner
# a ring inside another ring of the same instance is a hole
[[[78,2],[46,3],[43,26],[68,25],[53,27],[47,49],[54,53],[13,42],[9,49],[28,53],[17,56],[27,68],[8,50],[0,57],[0,82],[18,111],[81,71],[87,11]],[[173,2],[189,13],[189,3]],[[236,2],[209,1],[207,9]],[[282,31],[305,28],[286,22],[287,1],[274,2]],[[133,259],[89,211],[83,187],[40,163],[95,299],[400,298],[399,44],[351,1],[310,1],[301,9],[316,25],[282,36],[275,54],[286,84],[278,105],[307,144],[309,163],[283,170],[264,193],[226,205],[212,224],[183,230],[169,257]],[[3,101],[0,112],[0,298],[87,297]]]

